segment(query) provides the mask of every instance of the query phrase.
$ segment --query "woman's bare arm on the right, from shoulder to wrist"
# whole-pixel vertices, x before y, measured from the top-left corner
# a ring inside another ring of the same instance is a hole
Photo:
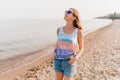
[[[78,39],[78,46],[79,46],[79,51],[78,53],[76,54],[76,59],[78,59],[83,50],[84,50],[84,37],[83,37],[83,31],[78,29],[78,36],[77,36],[77,39]]]

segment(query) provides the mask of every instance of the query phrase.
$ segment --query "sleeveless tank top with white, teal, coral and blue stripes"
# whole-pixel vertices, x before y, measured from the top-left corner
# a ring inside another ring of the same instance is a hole
[[[67,34],[63,30],[64,27],[59,27],[59,33],[57,36],[57,43],[55,48],[56,57],[58,59],[69,58],[70,55],[74,55],[78,52],[77,32],[75,28],[74,32]]]

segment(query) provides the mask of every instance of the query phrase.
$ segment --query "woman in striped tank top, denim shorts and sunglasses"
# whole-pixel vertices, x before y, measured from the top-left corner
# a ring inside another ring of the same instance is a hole
[[[66,25],[57,29],[54,70],[57,80],[74,80],[77,73],[76,61],[84,47],[79,12],[70,8],[65,11],[64,20]]]

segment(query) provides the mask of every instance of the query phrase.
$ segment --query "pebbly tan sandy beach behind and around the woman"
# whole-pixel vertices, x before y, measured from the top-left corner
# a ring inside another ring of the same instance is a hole
[[[75,80],[120,80],[120,21],[88,33],[84,40]],[[54,46],[0,61],[0,80],[55,80]]]

